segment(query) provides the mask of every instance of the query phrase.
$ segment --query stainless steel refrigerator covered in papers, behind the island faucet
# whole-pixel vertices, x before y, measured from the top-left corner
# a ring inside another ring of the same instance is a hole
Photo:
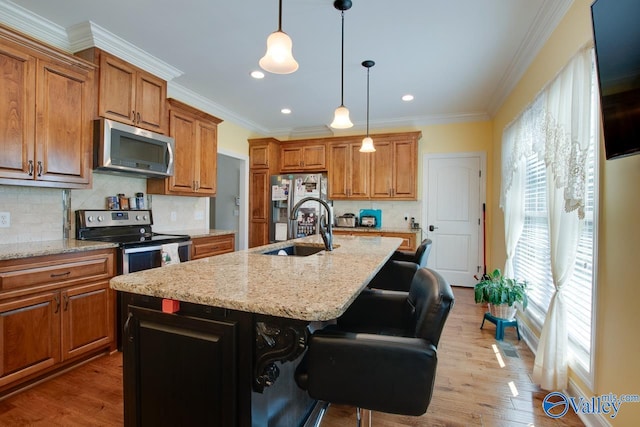
[[[270,242],[318,234],[318,220],[323,214],[326,215],[327,221],[332,221],[333,213],[327,212],[324,206],[314,201],[305,202],[300,206],[297,219],[290,221],[291,209],[305,197],[317,197],[329,203],[325,174],[271,176]]]

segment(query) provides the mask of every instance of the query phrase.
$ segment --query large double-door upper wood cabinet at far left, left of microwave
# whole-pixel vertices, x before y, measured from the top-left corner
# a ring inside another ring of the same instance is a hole
[[[0,184],[91,185],[94,67],[0,26]]]

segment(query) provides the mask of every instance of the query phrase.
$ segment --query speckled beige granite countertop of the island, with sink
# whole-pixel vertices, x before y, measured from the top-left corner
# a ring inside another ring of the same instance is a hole
[[[334,236],[306,257],[263,255],[320,236],[274,243],[111,279],[113,289],[306,321],[339,317],[389,259],[398,237]]]

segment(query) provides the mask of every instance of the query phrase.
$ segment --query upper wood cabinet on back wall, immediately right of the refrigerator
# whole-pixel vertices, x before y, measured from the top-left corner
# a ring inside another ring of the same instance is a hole
[[[329,199],[369,198],[369,153],[360,141],[329,143]]]

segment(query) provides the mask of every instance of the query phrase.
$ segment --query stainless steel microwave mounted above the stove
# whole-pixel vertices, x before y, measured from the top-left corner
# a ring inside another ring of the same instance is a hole
[[[98,171],[164,178],[173,175],[175,140],[113,120],[95,122]]]

